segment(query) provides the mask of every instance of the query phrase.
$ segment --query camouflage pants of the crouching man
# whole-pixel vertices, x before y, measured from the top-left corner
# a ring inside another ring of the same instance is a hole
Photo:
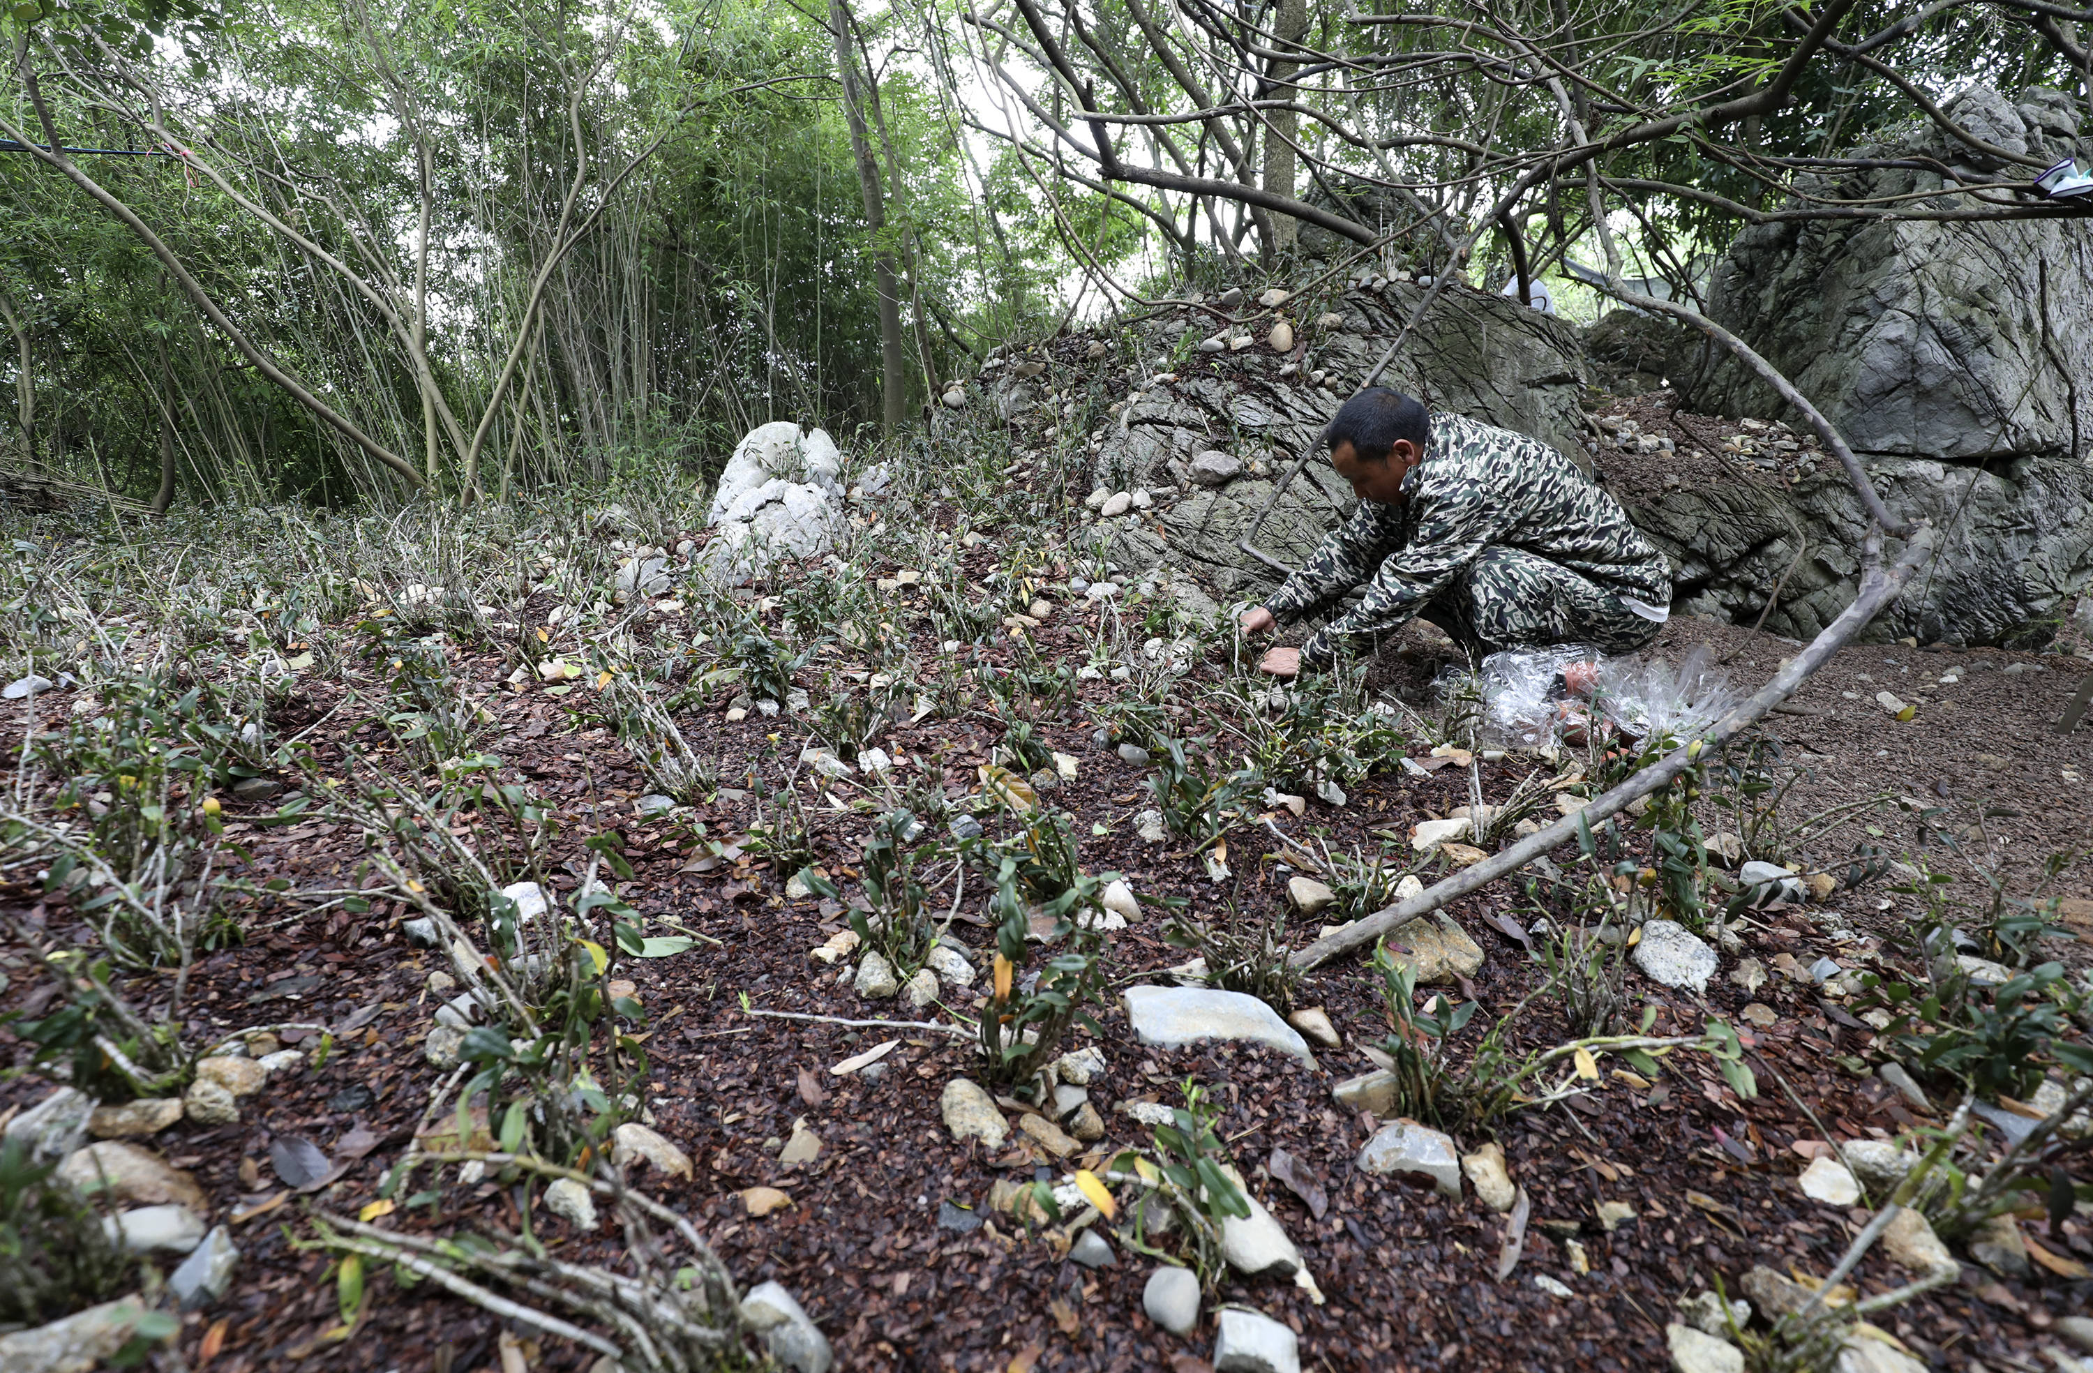
[[[1520,548],[1488,546],[1421,611],[1471,653],[1589,643],[1633,653],[1658,630],[1597,582]]]

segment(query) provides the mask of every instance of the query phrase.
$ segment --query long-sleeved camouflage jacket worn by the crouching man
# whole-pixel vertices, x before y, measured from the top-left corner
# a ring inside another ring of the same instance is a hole
[[[1360,500],[1264,603],[1291,624],[1371,578],[1365,601],[1308,640],[1306,663],[1327,666],[1344,640],[1371,651],[1367,638],[1400,628],[1492,544],[1545,557],[1653,607],[1672,599],[1664,555],[1618,500],[1540,440],[1434,412],[1425,458],[1402,479],[1402,504]]]

